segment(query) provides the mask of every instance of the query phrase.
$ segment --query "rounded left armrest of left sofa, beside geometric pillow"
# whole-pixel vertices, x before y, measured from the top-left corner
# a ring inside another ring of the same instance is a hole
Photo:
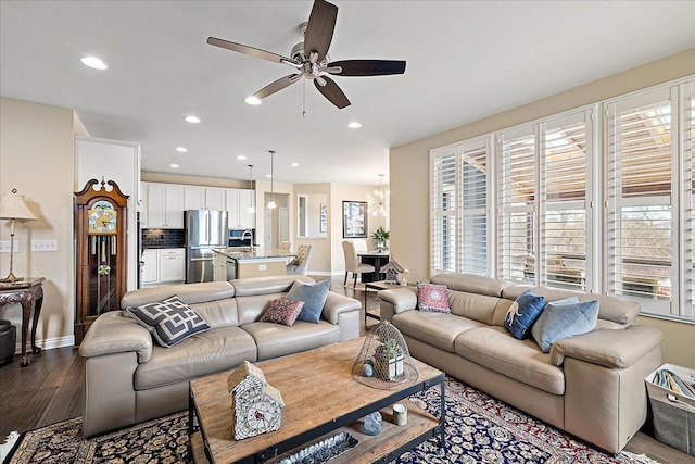
[[[97,317],[79,346],[84,358],[136,352],[139,363],[152,355],[152,335],[137,321],[124,316],[123,311],[111,311]]]

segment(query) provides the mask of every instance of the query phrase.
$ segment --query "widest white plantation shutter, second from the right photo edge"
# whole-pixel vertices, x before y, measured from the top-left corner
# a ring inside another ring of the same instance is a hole
[[[608,291],[664,313],[673,261],[671,106],[662,89],[606,111]]]

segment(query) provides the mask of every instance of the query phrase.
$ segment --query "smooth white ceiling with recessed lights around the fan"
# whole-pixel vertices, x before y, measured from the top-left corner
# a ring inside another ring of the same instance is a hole
[[[248,179],[254,164],[258,178],[276,150],[276,181],[378,185],[391,147],[695,47],[691,0],[333,3],[331,60],[407,61],[400,76],[334,77],[344,110],[312,83],[305,117],[302,83],[250,106],[292,70],[205,42],[289,55],[311,0],[1,0],[0,95],[74,109],[91,136],[140,142],[144,171]],[[87,54],[110,68],[84,66]]]

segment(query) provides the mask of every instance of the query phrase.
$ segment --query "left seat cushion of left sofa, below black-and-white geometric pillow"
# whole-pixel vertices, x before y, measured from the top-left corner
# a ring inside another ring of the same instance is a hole
[[[152,347],[150,361],[135,372],[135,389],[186,381],[231,369],[243,361],[256,361],[253,337],[239,327],[211,329],[172,348]]]

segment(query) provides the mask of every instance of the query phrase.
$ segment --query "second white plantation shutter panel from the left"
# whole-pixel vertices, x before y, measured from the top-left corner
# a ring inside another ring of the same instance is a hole
[[[472,140],[456,147],[460,166],[460,253],[457,271],[490,275],[488,269],[488,152],[490,139]]]

